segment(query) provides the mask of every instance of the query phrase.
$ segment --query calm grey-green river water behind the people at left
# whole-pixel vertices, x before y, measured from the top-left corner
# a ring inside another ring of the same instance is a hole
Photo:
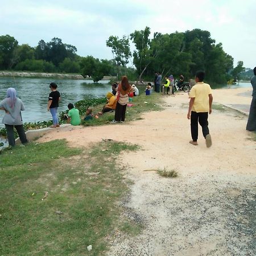
[[[23,122],[37,122],[51,120],[51,113],[47,112],[48,95],[52,79],[32,79],[18,77],[0,77],[0,101],[6,97],[6,90],[14,87],[18,97],[22,99],[26,110],[22,112]],[[92,80],[54,80],[61,94],[58,112],[67,109],[67,105],[82,100],[84,96],[102,97],[111,92],[108,80],[94,84]],[[4,112],[0,111],[0,127],[3,126]]]

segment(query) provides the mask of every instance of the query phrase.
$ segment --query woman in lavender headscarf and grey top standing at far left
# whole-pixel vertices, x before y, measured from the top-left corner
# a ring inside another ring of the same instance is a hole
[[[25,110],[25,108],[22,100],[16,96],[16,90],[14,88],[7,89],[5,100],[0,102],[0,109],[5,110],[3,123],[6,127],[9,146],[15,146],[14,127],[19,135],[20,142],[26,144],[28,141],[20,113],[20,111]]]

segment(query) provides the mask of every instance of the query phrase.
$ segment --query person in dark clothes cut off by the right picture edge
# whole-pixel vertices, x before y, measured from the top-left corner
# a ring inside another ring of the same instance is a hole
[[[251,85],[253,86],[253,99],[251,100],[251,107],[249,118],[246,125],[247,131],[256,131],[256,67],[253,69],[254,76],[251,77]]]

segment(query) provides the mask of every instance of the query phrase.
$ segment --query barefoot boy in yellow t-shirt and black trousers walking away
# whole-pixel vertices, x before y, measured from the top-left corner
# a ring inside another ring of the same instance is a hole
[[[203,135],[207,147],[212,146],[212,138],[208,128],[208,113],[212,113],[212,89],[204,83],[205,72],[196,72],[196,84],[189,92],[188,119],[191,119],[191,137],[189,143],[198,145],[198,123],[202,126]]]

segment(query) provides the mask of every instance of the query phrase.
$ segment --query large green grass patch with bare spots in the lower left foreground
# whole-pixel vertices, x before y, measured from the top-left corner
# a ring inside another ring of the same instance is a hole
[[[114,229],[135,232],[119,219],[127,185],[116,161],[122,150],[137,149],[107,141],[82,151],[52,141],[3,151],[0,254],[102,255]]]

